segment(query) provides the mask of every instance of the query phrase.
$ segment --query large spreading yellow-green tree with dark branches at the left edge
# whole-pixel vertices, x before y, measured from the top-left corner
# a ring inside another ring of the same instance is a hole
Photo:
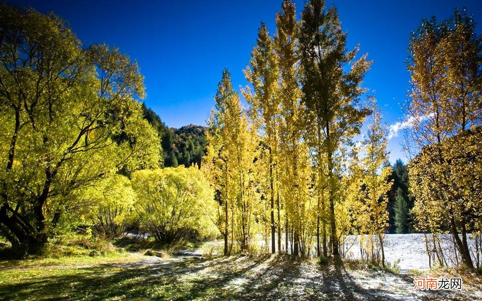
[[[73,191],[157,166],[160,144],[143,76],[117,49],[84,49],[59,18],[6,4],[0,33],[0,231],[23,256],[82,206]]]

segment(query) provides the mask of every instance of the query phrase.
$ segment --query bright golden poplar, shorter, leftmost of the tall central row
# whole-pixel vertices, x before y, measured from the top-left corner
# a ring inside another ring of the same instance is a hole
[[[239,95],[231,85],[227,69],[223,70],[215,96],[216,107],[208,120],[208,152],[203,171],[216,191],[219,208],[211,218],[224,235],[224,254],[228,255],[229,229],[231,241],[236,239],[241,250],[248,250],[255,229],[255,214],[258,211],[256,191],[259,140],[250,130]]]

